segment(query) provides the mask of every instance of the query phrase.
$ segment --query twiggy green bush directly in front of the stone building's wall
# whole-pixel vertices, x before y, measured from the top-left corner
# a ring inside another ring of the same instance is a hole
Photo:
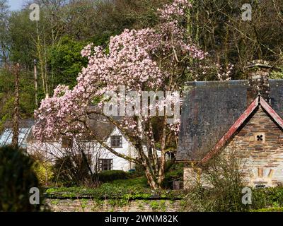
[[[201,181],[195,179],[187,197],[188,206],[195,211],[248,211],[250,206],[242,203],[244,187],[238,158],[230,154],[216,157],[202,169]]]

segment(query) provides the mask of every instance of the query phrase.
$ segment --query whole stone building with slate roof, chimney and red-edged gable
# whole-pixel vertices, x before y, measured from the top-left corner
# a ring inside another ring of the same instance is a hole
[[[176,155],[185,163],[185,188],[209,160],[231,149],[243,160],[249,186],[283,183],[283,80],[269,79],[270,69],[253,61],[247,80],[187,84]]]

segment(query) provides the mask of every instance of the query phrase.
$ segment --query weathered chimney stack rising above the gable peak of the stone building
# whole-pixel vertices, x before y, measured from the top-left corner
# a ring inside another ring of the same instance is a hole
[[[250,105],[255,97],[259,94],[266,102],[270,103],[270,66],[268,61],[255,60],[248,63],[245,67],[246,73],[248,75],[248,105]]]

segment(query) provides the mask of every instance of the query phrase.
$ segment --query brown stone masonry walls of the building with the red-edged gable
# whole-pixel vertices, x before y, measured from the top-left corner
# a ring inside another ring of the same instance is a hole
[[[262,107],[231,138],[221,155],[229,153],[241,157],[248,186],[283,184],[283,131]],[[185,189],[195,175],[189,166],[185,167]]]

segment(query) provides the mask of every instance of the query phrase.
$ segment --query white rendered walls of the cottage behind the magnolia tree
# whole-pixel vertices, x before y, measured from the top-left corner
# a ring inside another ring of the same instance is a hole
[[[132,143],[129,143],[127,138],[117,128],[114,128],[109,136],[105,137],[105,143],[117,153],[122,153],[129,157],[136,156],[136,150]],[[92,167],[99,167],[98,171],[128,171],[129,169],[134,169],[134,163],[122,157],[117,157],[117,155],[114,155],[99,143],[89,138],[75,141],[71,138],[62,137],[54,141],[45,142],[28,138],[27,141],[27,152],[29,154],[39,154],[50,162],[54,162],[58,157],[63,157],[67,152],[79,152],[80,148],[91,157]]]

